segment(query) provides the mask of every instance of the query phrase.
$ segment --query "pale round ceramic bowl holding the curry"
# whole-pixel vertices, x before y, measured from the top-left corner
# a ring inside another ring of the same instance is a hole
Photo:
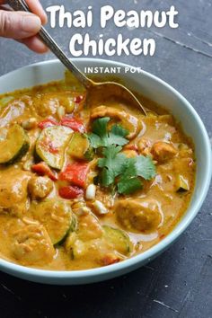
[[[167,235],[163,241],[157,243],[148,251],[132,257],[126,261],[119,262],[107,267],[87,270],[73,271],[51,271],[42,269],[31,269],[16,265],[9,261],[0,260],[0,269],[18,278],[24,278],[35,282],[57,284],[57,285],[78,285],[115,278],[128,273],[152,261],[157,255],[167,249],[190,225],[190,222],[199,212],[199,208],[206,198],[211,179],[211,147],[206,128],[204,127],[197,112],[190,103],[175,91],[172,86],[164,83],[161,79],[146,72],[127,73],[121,63],[111,62],[102,59],[80,58],[75,59],[75,64],[84,70],[85,66],[118,66],[121,68],[119,77],[134,91],[144,94],[151,100],[165,106],[172,115],[181,121],[185,133],[192,137],[197,157],[196,186],[187,209],[181,221]],[[61,79],[64,76],[65,68],[57,60],[41,62],[26,66],[12,73],[0,77],[0,93],[11,92],[16,89],[30,87],[37,84],[47,83],[52,80]],[[104,75],[102,75],[104,76]]]

